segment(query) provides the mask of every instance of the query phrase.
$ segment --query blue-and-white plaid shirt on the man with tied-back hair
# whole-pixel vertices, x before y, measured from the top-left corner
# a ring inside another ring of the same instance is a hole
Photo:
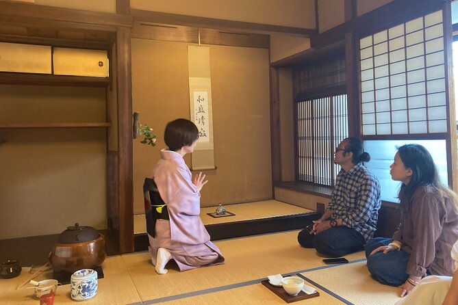
[[[380,206],[379,180],[358,163],[348,172],[340,170],[326,210],[333,212],[331,218],[340,218],[342,225],[361,233],[367,242],[377,229]]]

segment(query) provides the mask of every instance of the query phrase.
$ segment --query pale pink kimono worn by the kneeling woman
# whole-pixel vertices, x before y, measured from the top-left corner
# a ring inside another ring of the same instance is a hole
[[[162,159],[153,170],[153,179],[166,202],[169,220],[157,220],[156,237],[149,237],[149,252],[166,248],[180,271],[225,261],[199,217],[201,194],[192,183],[191,172],[177,152],[161,150]]]

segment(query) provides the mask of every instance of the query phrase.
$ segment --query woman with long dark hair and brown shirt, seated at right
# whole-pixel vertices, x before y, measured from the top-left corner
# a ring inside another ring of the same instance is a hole
[[[392,239],[371,239],[366,257],[372,276],[399,286],[403,297],[424,276],[453,274],[450,250],[458,239],[457,197],[440,183],[433,158],[421,145],[398,148],[390,168],[392,179],[402,183],[400,224]]]

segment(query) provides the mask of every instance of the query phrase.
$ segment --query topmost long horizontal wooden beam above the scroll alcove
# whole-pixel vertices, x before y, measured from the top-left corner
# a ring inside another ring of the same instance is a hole
[[[166,25],[185,25],[206,29],[222,29],[225,31],[249,32],[254,34],[283,34],[299,37],[311,37],[318,32],[316,29],[301,27],[283,27],[280,25],[266,25],[262,23],[246,23],[215,18],[185,16],[146,10],[131,10],[131,15],[136,22],[162,23]]]

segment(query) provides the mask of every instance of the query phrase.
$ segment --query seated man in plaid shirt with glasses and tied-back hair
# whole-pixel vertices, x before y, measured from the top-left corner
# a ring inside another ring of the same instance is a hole
[[[363,250],[377,228],[381,205],[380,183],[361,163],[369,160],[355,137],[347,137],[335,148],[334,163],[341,170],[331,202],[310,233],[304,229],[298,234],[301,246],[331,257]]]

